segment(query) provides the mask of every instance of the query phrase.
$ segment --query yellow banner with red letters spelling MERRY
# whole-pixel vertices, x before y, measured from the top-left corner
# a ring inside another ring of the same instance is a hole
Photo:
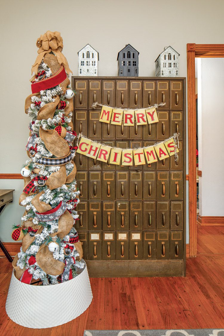
[[[110,106],[104,106],[102,104],[95,103],[93,108],[102,106],[99,121],[112,125],[121,125],[123,121],[124,126],[147,125],[154,124],[159,121],[156,108],[158,106],[164,106],[165,103],[155,104],[145,109],[117,109]]]

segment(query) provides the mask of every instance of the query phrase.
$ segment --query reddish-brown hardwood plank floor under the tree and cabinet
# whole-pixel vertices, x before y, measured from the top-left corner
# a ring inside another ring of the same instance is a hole
[[[89,309],[70,323],[39,330],[20,327],[8,318],[5,300],[12,266],[0,259],[1,335],[83,336],[85,329],[223,328],[223,237],[224,226],[198,227],[198,256],[187,259],[186,278],[90,279],[93,301]],[[62,303],[55,300],[55,304]]]

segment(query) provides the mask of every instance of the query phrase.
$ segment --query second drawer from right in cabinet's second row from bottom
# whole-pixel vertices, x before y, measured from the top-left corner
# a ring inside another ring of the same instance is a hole
[[[170,202],[156,202],[156,229],[169,230],[170,228]]]

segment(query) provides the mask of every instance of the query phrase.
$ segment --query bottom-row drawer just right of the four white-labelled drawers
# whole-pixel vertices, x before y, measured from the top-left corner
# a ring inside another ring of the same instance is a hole
[[[143,259],[156,259],[156,232],[143,231]]]

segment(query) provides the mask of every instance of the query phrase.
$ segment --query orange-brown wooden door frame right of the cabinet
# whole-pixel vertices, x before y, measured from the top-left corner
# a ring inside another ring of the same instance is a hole
[[[187,44],[189,250],[197,256],[195,57],[224,57],[224,44]]]

